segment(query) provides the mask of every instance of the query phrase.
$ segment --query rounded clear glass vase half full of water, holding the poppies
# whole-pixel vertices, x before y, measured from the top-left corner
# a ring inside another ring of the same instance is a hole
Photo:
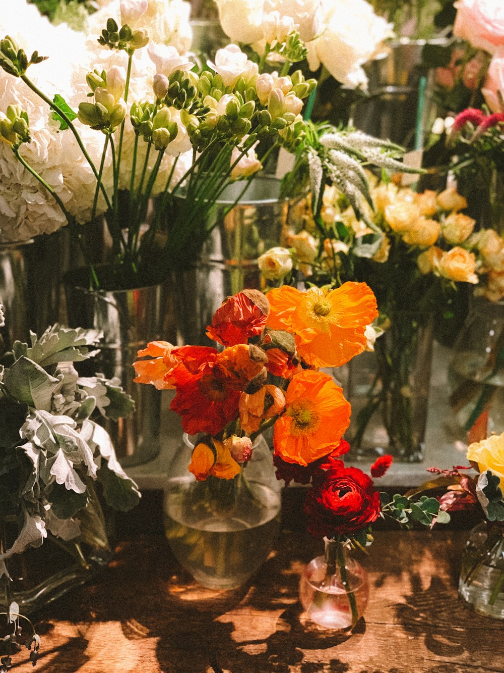
[[[252,458],[235,479],[196,481],[187,470],[194,444],[183,446],[169,469],[165,532],[173,554],[198,583],[230,589],[264,563],[280,530],[280,482],[271,452],[258,437]]]

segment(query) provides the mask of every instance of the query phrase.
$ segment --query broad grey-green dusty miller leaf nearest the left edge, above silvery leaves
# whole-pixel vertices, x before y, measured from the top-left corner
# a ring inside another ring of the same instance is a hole
[[[5,369],[3,383],[11,396],[19,402],[49,411],[52,393],[59,381],[37,363],[21,357],[12,367]]]

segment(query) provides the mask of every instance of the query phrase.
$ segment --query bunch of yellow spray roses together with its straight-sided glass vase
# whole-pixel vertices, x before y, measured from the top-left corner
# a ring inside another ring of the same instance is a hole
[[[417,193],[375,181],[370,200],[376,210],[362,209],[358,219],[340,192],[326,188],[318,214],[298,213],[284,254],[308,283],[335,287],[351,279],[373,289],[380,311],[368,330],[374,354],[364,356],[368,368],[361,359],[347,372],[349,437],[362,456],[381,448],[415,461],[423,450],[433,315],[449,310],[456,283],[478,283],[482,254],[454,188]],[[265,277],[288,279],[288,263],[277,272],[270,257],[259,260]]]

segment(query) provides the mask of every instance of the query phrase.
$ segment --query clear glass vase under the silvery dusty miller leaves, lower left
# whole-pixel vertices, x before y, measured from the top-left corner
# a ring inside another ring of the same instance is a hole
[[[41,546],[7,559],[11,579],[0,577],[0,612],[15,601],[22,614],[31,614],[84,584],[112,559],[108,526],[89,481],[87,493],[86,507],[75,515],[81,524],[77,538],[62,540],[48,532]],[[0,532],[0,550],[7,550],[19,533],[17,518],[0,518]]]

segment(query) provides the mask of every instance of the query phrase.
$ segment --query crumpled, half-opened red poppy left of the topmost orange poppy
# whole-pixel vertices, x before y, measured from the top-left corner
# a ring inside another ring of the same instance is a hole
[[[222,304],[214,313],[206,335],[224,346],[247,343],[264,330],[269,302],[259,290],[243,290]]]

